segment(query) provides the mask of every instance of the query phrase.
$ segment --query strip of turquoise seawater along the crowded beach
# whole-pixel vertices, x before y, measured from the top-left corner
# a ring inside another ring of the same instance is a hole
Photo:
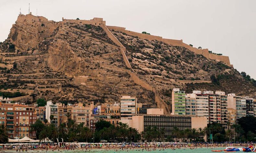
[[[176,150],[172,150],[172,149],[156,149],[156,150],[151,150],[151,151],[146,151],[145,149],[93,149],[93,150],[60,150],[60,151],[52,151],[52,150],[48,150],[47,153],[214,153],[212,152],[212,150],[223,150],[224,148],[197,148],[197,149],[190,149],[190,148],[186,148],[186,149],[176,149]],[[6,153],[14,153],[16,152],[16,150],[11,150],[11,151],[5,151]],[[46,153],[46,151],[30,151],[28,150],[29,153]],[[224,152],[224,151],[222,151]],[[19,152],[17,152],[19,153]],[[22,151],[20,151],[20,153],[22,153]]]

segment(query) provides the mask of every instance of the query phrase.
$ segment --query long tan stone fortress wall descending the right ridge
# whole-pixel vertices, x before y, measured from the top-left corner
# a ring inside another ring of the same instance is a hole
[[[192,47],[188,44],[183,43],[182,40],[165,39],[165,38],[162,38],[160,36],[141,34],[141,33],[126,30],[124,27],[118,27],[118,26],[108,26],[108,29],[115,30],[115,31],[120,31],[120,32],[126,33],[127,35],[130,35],[130,36],[137,36],[141,39],[157,40],[157,41],[162,41],[166,44],[173,45],[173,46],[182,46],[182,47],[188,48],[190,51],[195,52],[196,54],[203,55],[203,56],[205,56],[206,58],[209,58],[209,59],[222,61],[227,66],[232,66],[232,65],[230,65],[230,61],[229,61],[228,56],[220,56],[220,55],[211,54],[211,53],[209,53],[208,49],[197,49],[195,47]]]

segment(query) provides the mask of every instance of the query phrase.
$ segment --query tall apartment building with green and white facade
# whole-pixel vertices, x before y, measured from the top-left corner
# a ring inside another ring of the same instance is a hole
[[[172,115],[186,115],[186,95],[185,91],[179,88],[172,90]]]

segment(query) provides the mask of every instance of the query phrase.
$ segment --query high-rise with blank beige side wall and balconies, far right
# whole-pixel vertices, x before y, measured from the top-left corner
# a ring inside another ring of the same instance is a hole
[[[236,110],[236,121],[246,116],[246,98],[236,96],[236,94],[227,95],[227,107]]]

